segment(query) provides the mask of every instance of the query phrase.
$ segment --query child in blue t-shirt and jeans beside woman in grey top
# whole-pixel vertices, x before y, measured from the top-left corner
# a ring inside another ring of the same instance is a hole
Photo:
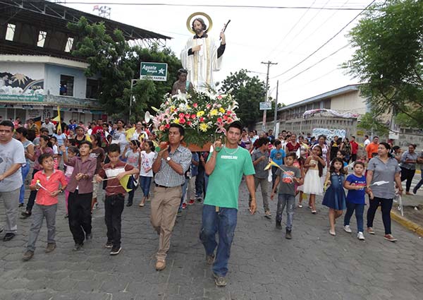
[[[348,175],[345,179],[344,187],[348,189],[346,198],[347,212],[344,217],[344,230],[351,233],[350,219],[355,211],[355,218],[357,219],[357,239],[364,241],[364,203],[365,203],[365,188],[367,186],[366,177],[364,176],[364,163],[355,162],[354,173]]]

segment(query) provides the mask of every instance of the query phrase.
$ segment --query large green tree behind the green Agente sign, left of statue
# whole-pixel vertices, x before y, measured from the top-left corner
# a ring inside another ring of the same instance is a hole
[[[159,106],[166,92],[171,92],[181,64],[170,49],[159,49],[156,44],[148,49],[131,46],[120,30],[109,35],[104,23],[90,24],[84,17],[78,23],[68,23],[68,28],[75,32],[72,54],[89,64],[87,77],[99,76],[99,101],[112,117],[128,119],[131,110],[130,121],[140,120],[150,107]],[[168,80],[138,80],[131,92],[131,80],[140,78],[141,61],[167,63]]]

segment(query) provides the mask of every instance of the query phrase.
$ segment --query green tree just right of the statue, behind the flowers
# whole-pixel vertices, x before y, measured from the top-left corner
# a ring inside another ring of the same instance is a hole
[[[254,126],[263,113],[259,105],[266,97],[266,84],[257,76],[248,76],[247,70],[241,69],[223,80],[220,90],[223,93],[231,90],[239,105],[236,111],[238,118],[245,126]]]

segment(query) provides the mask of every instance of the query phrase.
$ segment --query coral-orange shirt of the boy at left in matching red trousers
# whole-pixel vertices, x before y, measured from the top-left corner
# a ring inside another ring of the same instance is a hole
[[[34,175],[34,179],[31,181],[31,185],[37,184],[37,180],[39,180],[39,184],[41,184],[44,188],[39,188],[37,192],[37,198],[35,198],[35,203],[38,205],[54,205],[57,204],[57,196],[51,197],[50,192],[54,192],[59,190],[59,184],[61,186],[66,186],[66,178],[63,172],[60,170],[54,169],[53,174],[49,177],[43,171],[38,171]]]

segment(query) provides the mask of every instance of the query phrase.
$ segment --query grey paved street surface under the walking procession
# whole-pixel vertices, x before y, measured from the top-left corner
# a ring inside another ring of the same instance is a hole
[[[157,234],[149,224],[149,203],[123,211],[123,251],[109,256],[104,248],[104,210],[94,211],[94,239],[84,250],[73,252],[73,239],[63,218],[61,196],[56,219],[57,248],[44,253],[45,222],[35,256],[21,260],[31,218],[18,221],[18,235],[0,241],[0,299],[422,299],[423,240],[393,222],[393,244],[383,238],[380,212],[376,235],[358,241],[342,230],[330,236],[326,208],[318,214],[307,208],[295,210],[293,239],[274,228],[274,216],[264,218],[260,193],[259,211],[247,212],[247,190],[241,186],[238,227],[228,273],[228,286],[214,286],[212,272],[198,239],[201,203],[178,218],[171,240],[167,268],[154,270]],[[27,197],[25,198],[25,200]],[[318,198],[321,203],[321,198]],[[275,212],[276,203],[271,203]],[[4,221],[4,208],[0,210]],[[286,220],[285,215],[283,220]],[[351,227],[355,230],[353,217]],[[1,235],[2,236],[2,235]]]

